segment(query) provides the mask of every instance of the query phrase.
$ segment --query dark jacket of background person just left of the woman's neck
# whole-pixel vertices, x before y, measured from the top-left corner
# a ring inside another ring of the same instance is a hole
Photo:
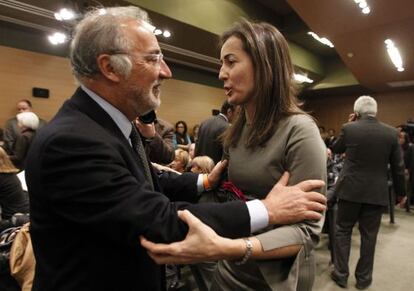
[[[219,162],[223,156],[223,143],[220,136],[229,125],[220,114],[203,121],[198,131],[195,156],[209,156],[214,163]]]

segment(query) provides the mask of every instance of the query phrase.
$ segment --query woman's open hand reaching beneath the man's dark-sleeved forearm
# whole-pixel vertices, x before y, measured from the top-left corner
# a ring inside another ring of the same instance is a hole
[[[171,244],[156,244],[140,237],[141,245],[157,264],[188,264],[215,260],[223,256],[240,256],[240,251],[234,251],[232,254],[232,248],[227,248],[228,245],[238,242],[218,236],[188,210],[178,211],[178,217],[189,227],[185,240]],[[243,242],[239,249],[243,252]]]

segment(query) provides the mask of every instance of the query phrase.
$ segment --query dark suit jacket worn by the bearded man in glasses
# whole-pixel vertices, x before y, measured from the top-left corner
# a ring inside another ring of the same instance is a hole
[[[170,202],[195,200],[197,176],[160,183],[153,176],[154,192],[136,159],[110,116],[81,89],[35,137],[26,168],[33,290],[163,290],[163,269],[139,236],[182,240],[187,226],[177,209],[189,209],[222,235],[249,234],[244,203]]]

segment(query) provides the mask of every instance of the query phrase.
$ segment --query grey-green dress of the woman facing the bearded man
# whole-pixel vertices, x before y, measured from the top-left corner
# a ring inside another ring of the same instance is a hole
[[[244,146],[249,126],[245,124],[237,147],[229,149],[229,180],[249,198],[263,199],[285,171],[290,173],[289,185],[307,179],[326,180],[326,148],[311,117],[297,114],[284,118],[266,145],[254,150]],[[242,266],[220,261],[211,290],[311,290],[313,249],[322,225],[323,219],[305,221],[256,234],[265,251],[297,244],[303,247],[291,258],[249,260]]]

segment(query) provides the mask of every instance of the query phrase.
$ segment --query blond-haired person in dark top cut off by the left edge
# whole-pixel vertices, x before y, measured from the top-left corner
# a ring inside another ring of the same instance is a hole
[[[13,214],[29,212],[29,198],[17,178],[18,171],[0,147],[0,230],[11,226]]]

